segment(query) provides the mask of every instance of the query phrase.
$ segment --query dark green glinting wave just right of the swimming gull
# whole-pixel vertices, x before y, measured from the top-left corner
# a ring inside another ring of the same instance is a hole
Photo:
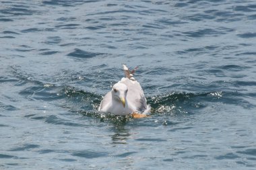
[[[231,82],[232,83],[232,82]],[[207,93],[167,93],[148,97],[147,101],[152,107],[152,114],[193,114],[210,103],[220,102],[230,105],[240,105],[243,108],[254,108],[238,92],[213,91]]]

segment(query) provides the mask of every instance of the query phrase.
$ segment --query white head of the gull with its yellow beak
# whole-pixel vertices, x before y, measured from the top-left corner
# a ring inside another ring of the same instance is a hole
[[[123,83],[116,83],[115,85],[113,85],[113,88],[111,91],[113,98],[121,102],[123,104],[123,108],[125,108],[127,91],[128,91],[128,87]]]

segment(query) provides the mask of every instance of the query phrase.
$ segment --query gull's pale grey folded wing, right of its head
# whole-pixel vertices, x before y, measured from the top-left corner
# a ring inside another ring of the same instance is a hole
[[[128,87],[126,99],[129,105],[132,105],[139,112],[146,110],[147,99],[141,85],[137,81],[131,81],[129,78],[121,79],[120,83],[124,83]]]

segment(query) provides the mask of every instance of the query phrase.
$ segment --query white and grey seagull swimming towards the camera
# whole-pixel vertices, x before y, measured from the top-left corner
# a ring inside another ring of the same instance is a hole
[[[129,71],[126,65],[123,65],[125,77],[113,85],[111,91],[103,97],[99,112],[121,116],[131,114],[133,118],[148,117],[150,105],[147,105],[141,85],[133,77],[137,69],[138,67]]]

